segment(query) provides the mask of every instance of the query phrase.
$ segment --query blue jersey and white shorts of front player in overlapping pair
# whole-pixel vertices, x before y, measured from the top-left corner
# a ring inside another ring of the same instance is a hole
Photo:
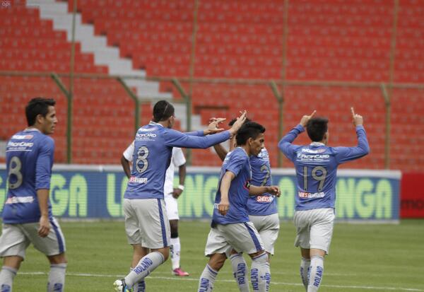
[[[235,174],[228,192],[230,207],[225,216],[219,214],[218,204],[221,200],[220,183],[227,171]],[[237,252],[252,254],[264,250],[261,237],[247,214],[249,184],[252,170],[249,157],[243,148],[237,147],[224,159],[220,172],[218,191],[213,206],[212,228],[208,235],[205,255],[227,253],[231,248]]]

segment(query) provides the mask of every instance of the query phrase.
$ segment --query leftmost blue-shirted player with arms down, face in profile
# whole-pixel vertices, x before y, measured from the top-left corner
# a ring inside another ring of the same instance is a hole
[[[54,105],[52,99],[30,100],[25,107],[28,128],[14,134],[6,145],[8,192],[0,237],[1,292],[12,291],[13,278],[30,243],[50,262],[47,291],[64,291],[65,240],[49,202],[54,141],[47,135],[53,134],[57,124]]]

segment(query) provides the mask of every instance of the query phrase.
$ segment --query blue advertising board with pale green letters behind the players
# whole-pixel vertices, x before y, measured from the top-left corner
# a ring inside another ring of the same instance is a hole
[[[219,168],[188,168],[179,198],[181,218],[211,218]],[[274,169],[281,219],[293,218],[295,173]],[[6,199],[6,169],[0,165],[0,202]],[[338,170],[336,217],[342,221],[398,221],[401,173],[393,170]],[[175,185],[178,184],[175,177]],[[54,216],[61,218],[122,218],[127,178],[117,165],[55,165],[51,182]],[[0,211],[3,204],[0,206]]]

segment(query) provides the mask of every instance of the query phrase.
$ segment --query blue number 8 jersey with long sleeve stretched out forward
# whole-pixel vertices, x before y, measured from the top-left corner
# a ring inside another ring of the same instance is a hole
[[[131,177],[126,199],[163,199],[165,173],[170,165],[172,147],[208,148],[230,138],[228,131],[203,136],[203,131],[182,133],[150,122],[134,139]]]

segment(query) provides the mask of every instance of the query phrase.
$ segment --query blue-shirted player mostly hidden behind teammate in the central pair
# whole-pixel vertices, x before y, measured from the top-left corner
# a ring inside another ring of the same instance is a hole
[[[250,122],[249,119],[246,119]],[[229,125],[235,122],[233,119]],[[245,124],[247,123],[245,122]],[[234,138],[233,138],[234,139]],[[213,146],[221,160],[225,159],[228,152],[220,144]],[[230,151],[234,148],[234,141],[230,141]],[[271,186],[271,165],[269,163],[269,154],[266,148],[262,148],[257,156],[250,156],[250,167],[252,168],[251,185]],[[257,228],[259,235],[264,243],[264,248],[268,254],[268,262],[270,256],[273,255],[274,244],[278,238],[278,230],[280,229],[280,221],[278,218],[277,204],[272,194],[262,194],[260,196],[251,196],[247,200],[247,214],[249,220],[252,221]],[[249,282],[246,280],[247,264],[241,253],[232,251],[230,255],[232,272],[235,277],[240,292],[249,291]],[[271,276],[271,272],[270,272]]]

